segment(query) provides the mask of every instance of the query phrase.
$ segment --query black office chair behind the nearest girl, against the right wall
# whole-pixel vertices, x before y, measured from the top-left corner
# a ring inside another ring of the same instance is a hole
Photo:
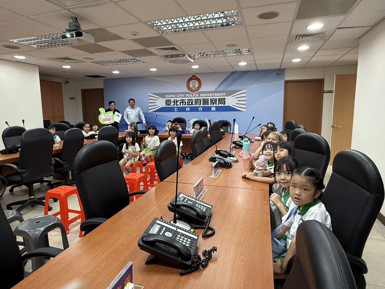
[[[365,288],[368,272],[362,252],[384,201],[384,186],[373,161],[363,153],[336,154],[321,201],[331,217],[333,233],[352,267],[357,288]]]

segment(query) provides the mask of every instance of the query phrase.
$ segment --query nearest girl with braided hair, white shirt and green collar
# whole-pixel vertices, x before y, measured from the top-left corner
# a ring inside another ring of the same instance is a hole
[[[331,230],[330,215],[323,203],[317,200],[323,188],[325,188],[323,177],[315,168],[297,168],[294,171],[290,182],[290,197],[293,204],[288,210],[285,222],[271,235],[274,274],[283,274],[290,258],[296,254],[295,235],[303,221],[316,220]],[[276,259],[281,256],[285,257]]]

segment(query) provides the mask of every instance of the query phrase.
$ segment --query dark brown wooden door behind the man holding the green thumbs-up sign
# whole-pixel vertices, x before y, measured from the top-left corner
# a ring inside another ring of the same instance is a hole
[[[82,105],[83,105],[83,121],[87,123],[99,123],[99,108],[104,108],[104,90],[102,88],[96,89],[82,89]]]

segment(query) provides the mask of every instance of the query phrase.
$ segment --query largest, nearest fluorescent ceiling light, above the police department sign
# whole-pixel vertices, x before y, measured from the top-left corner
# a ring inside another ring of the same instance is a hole
[[[156,20],[147,24],[162,34],[243,25],[238,10]]]

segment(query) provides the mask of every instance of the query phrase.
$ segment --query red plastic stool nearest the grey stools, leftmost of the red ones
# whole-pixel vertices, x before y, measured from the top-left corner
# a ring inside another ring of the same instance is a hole
[[[77,200],[79,201],[79,210],[72,210],[68,208],[68,197],[71,195],[77,195]],[[59,212],[53,213],[52,216],[60,215],[60,220],[62,221],[65,231],[67,234],[69,233],[69,225],[75,222],[76,220],[81,220],[83,222],[84,212],[82,207],[82,202],[80,201],[79,193],[77,192],[76,187],[72,186],[60,186],[49,190],[47,195],[45,195],[45,205],[44,205],[44,215],[48,215],[48,207],[49,207],[49,198],[57,198],[59,199],[60,210]],[[68,213],[77,213],[75,217],[69,219]],[[79,232],[79,237],[83,237],[83,232]]]

